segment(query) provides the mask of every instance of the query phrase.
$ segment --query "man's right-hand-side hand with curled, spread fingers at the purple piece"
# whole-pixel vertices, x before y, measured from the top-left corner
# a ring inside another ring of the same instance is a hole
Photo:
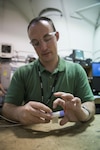
[[[54,93],[54,96],[59,98],[54,101],[53,107],[56,108],[57,105],[60,105],[65,112],[65,116],[60,121],[60,125],[64,125],[69,121],[83,121],[88,117],[86,111],[82,109],[80,98],[64,92]]]

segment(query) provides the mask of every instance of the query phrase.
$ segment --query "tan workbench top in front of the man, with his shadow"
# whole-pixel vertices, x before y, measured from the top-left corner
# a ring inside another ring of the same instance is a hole
[[[87,123],[64,126],[52,121],[32,126],[7,124],[0,120],[0,150],[100,150],[99,114]]]

